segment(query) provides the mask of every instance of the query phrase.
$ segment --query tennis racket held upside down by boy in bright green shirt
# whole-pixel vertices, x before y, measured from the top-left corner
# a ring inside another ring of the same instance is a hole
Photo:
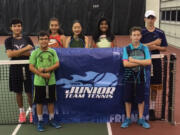
[[[42,51],[37,57],[38,68],[48,68],[48,67],[53,66],[54,65],[53,57],[54,57],[54,55],[50,51]],[[46,98],[47,99],[49,98],[49,86],[48,86],[49,79],[44,78],[45,85],[46,85]]]

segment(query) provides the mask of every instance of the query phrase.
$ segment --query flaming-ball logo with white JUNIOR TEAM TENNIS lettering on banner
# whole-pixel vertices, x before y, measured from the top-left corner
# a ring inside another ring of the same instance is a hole
[[[112,73],[86,72],[85,76],[71,75],[72,79],[62,78],[56,84],[65,88],[65,98],[113,98],[118,78]],[[103,86],[103,87],[102,87]]]

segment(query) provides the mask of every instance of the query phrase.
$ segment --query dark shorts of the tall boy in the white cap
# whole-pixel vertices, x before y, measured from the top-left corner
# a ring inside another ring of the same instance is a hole
[[[162,83],[162,63],[161,59],[152,59],[151,84]]]

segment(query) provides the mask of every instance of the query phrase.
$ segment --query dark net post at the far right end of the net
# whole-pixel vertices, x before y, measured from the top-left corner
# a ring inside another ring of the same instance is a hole
[[[169,96],[168,96],[168,122],[175,123],[175,81],[176,81],[176,54],[170,55],[169,62]]]

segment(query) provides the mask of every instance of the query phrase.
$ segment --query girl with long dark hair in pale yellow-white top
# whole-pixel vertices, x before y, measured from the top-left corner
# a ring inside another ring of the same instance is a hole
[[[106,18],[100,18],[97,30],[93,35],[93,48],[114,47],[114,35],[111,33],[110,22]]]

